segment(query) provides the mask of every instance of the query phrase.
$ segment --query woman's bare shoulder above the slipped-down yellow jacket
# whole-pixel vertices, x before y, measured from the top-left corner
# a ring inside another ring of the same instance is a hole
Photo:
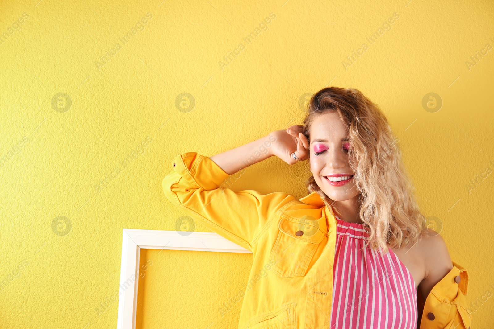
[[[424,279],[418,285],[425,299],[432,288],[451,271],[453,262],[443,237],[429,228],[420,237],[417,252],[425,267]]]

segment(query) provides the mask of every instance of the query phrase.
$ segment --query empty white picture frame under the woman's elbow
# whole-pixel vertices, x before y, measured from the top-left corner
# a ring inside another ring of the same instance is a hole
[[[251,251],[217,233],[180,232],[179,234],[177,231],[124,229],[117,329],[135,329],[141,249],[252,254]]]

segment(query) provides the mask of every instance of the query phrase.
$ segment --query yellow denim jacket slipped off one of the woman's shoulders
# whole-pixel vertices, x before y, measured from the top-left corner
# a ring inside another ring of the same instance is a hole
[[[234,192],[220,186],[230,175],[196,152],[176,156],[171,169],[163,179],[165,196],[252,252],[238,328],[329,328],[336,219],[319,195],[298,200],[284,192]],[[468,272],[453,262],[427,296],[417,328],[471,328],[467,287]]]

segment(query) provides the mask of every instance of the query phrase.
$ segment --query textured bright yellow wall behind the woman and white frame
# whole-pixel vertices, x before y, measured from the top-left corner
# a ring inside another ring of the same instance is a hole
[[[172,158],[300,124],[327,85],[385,111],[424,214],[470,272],[474,328],[492,327],[492,1],[237,2],[2,1],[1,328],[116,328],[122,230],[184,215],[161,189]],[[308,175],[273,157],[232,188],[302,197]],[[206,254],[145,253],[141,328],[232,328],[239,308],[208,314],[251,259]]]

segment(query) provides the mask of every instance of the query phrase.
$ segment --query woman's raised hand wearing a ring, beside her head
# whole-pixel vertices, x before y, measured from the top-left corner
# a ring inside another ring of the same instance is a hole
[[[292,157],[293,152],[300,160],[307,160],[309,158],[309,142],[302,134],[303,127],[294,125],[288,129],[273,131],[271,135],[276,138],[276,141],[271,146],[271,153],[290,165],[298,162]]]

